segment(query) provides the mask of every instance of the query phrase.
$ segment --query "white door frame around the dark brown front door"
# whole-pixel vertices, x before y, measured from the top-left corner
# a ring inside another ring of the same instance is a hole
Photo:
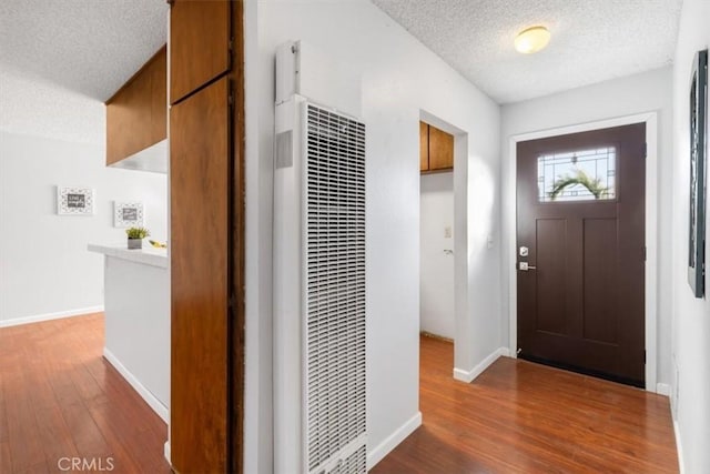
[[[537,140],[548,137],[556,137],[569,133],[586,132],[590,130],[607,129],[611,127],[629,125],[632,123],[646,123],[646,390],[658,392],[657,387],[657,297],[658,297],[658,114],[656,112],[626,115],[616,119],[608,119],[569,127],[560,127],[537,132],[513,135],[509,141],[508,174],[505,179],[508,182],[506,196],[509,203],[505,218],[508,229],[508,248],[504,250],[508,253],[508,300],[509,300],[509,341],[510,355],[516,356],[518,345],[518,280],[515,262],[517,262],[517,143],[528,140]],[[504,259],[505,261],[505,259]]]

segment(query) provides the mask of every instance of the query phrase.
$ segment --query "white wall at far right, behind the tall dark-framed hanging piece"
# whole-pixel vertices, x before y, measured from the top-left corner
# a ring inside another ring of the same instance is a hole
[[[710,279],[706,297],[694,299],[687,278],[689,209],[689,88],[694,53],[710,46],[710,2],[684,0],[673,60],[672,289],[673,405],[684,472],[710,472]],[[710,177],[710,173],[708,174]],[[710,188],[709,188],[710,189]],[[710,200],[707,201],[710,203]],[[710,235],[710,219],[706,221]],[[710,255],[706,239],[706,255]],[[706,268],[710,256],[706,256]]]

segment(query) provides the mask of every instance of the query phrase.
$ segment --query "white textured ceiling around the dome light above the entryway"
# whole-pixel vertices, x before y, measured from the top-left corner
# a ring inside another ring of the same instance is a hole
[[[671,63],[682,0],[373,0],[498,103]],[[537,54],[513,47],[544,24]]]

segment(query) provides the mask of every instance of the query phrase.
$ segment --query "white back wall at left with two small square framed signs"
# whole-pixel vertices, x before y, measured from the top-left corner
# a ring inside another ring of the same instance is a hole
[[[114,200],[143,201],[165,239],[166,177],[106,168],[103,150],[0,132],[0,324],[103,305],[103,255],[87,244],[125,239]],[[94,188],[95,215],[58,215],[57,185]]]

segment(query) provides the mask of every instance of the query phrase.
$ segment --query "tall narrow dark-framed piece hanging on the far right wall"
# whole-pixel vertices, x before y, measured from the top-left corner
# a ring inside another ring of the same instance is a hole
[[[706,286],[706,191],[708,154],[708,50],[698,51],[690,83],[690,222],[688,283],[696,297]]]

